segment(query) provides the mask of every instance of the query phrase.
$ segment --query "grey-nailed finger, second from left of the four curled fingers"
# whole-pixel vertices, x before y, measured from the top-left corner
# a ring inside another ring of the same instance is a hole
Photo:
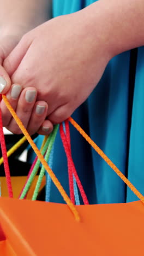
[[[16,114],[18,115],[26,129],[29,123],[29,118],[31,118],[36,98],[37,91],[35,90],[35,88],[29,87],[21,92],[19,101],[17,103]],[[8,130],[16,134],[21,133],[21,130],[19,129],[14,119],[10,121],[10,124],[8,125]]]

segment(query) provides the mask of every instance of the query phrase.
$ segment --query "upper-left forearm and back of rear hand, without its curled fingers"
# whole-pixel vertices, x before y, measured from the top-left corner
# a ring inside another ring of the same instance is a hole
[[[2,68],[3,60],[19,43],[23,34],[51,18],[51,0],[0,0],[0,72],[11,85],[8,74]],[[8,88],[3,90],[7,92]]]

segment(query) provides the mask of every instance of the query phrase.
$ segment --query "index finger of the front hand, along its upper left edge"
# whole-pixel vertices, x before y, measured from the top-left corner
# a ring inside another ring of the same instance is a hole
[[[14,50],[8,55],[3,62],[3,67],[7,70],[9,76],[16,71],[19,67],[23,57],[26,55],[32,40],[28,39],[27,36],[23,36],[20,42],[15,46]]]

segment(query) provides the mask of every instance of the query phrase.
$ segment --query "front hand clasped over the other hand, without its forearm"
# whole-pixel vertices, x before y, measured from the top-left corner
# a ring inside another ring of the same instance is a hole
[[[90,19],[91,20],[91,19]],[[87,13],[60,16],[25,34],[4,61],[13,83],[34,86],[49,104],[52,123],[61,123],[99,82],[110,59],[104,35],[93,35]]]

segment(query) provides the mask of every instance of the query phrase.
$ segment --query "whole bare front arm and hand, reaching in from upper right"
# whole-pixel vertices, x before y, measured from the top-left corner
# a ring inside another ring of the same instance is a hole
[[[113,56],[143,45],[143,8],[143,0],[101,0],[59,16],[26,33],[3,66],[13,83],[34,85],[38,100],[49,104],[49,120],[61,123],[91,94]]]

